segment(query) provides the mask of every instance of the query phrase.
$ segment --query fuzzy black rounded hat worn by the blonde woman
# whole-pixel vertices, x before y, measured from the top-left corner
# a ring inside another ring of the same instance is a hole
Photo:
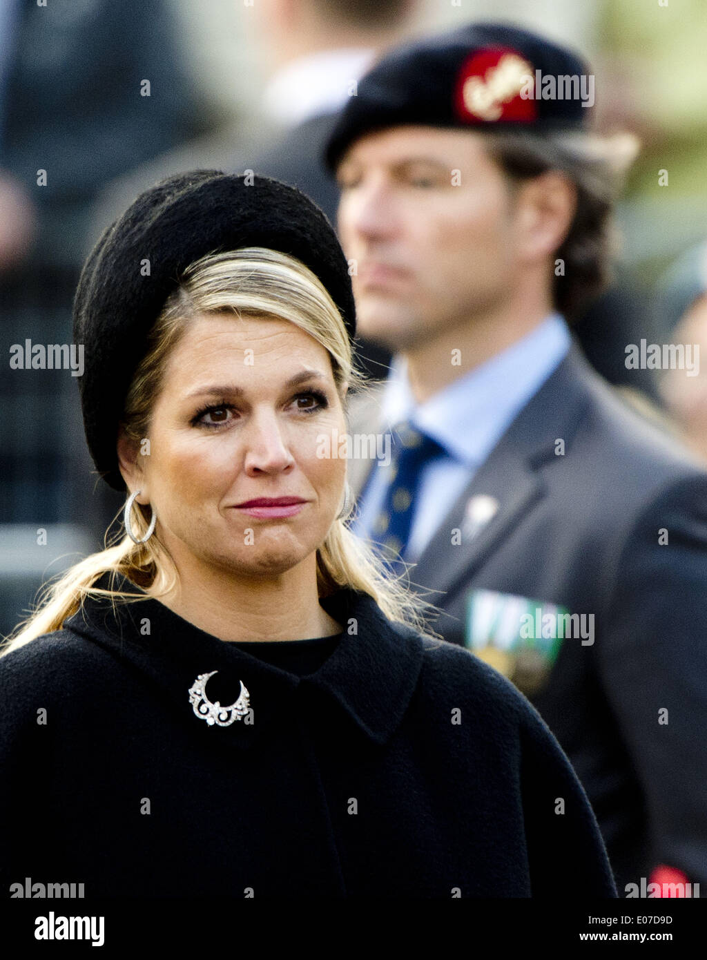
[[[289,253],[309,267],[353,338],[348,264],[334,228],[308,197],[279,180],[219,170],[160,181],[106,229],[83,265],[74,300],[74,342],[85,355],[79,389],[86,442],[115,490],[125,490],[118,424],[154,321],[187,267],[207,253],[242,247]],[[146,259],[149,276],[141,271]]]

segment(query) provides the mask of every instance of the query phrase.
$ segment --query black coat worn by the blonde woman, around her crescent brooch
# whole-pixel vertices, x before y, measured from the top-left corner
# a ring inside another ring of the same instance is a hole
[[[301,679],[153,599],[88,600],[0,660],[0,896],[28,876],[86,897],[616,896],[511,684],[365,594],[322,606],[344,633]],[[250,696],[227,727],[190,704],[214,670],[212,701]]]

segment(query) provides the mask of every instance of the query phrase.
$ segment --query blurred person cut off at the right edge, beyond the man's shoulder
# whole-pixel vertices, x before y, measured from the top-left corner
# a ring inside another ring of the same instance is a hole
[[[697,369],[688,375],[677,363],[661,374],[663,402],[680,434],[695,453],[707,461],[707,244],[685,252],[663,277],[659,302],[663,338],[691,349]]]

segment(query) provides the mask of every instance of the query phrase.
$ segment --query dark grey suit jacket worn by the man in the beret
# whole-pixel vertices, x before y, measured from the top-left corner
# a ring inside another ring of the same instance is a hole
[[[352,433],[375,429],[376,406],[375,394],[353,405]],[[368,468],[349,462],[355,489]],[[481,493],[498,513],[452,545]],[[477,588],[595,614],[594,644],[564,639],[533,703],[584,784],[620,893],[661,863],[707,893],[703,469],[574,345],[450,505],[411,579],[440,591],[433,625],[457,644]]]

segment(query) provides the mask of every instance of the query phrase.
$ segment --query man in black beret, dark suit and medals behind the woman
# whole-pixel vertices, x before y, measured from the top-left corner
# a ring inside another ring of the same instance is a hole
[[[572,334],[635,155],[592,131],[593,81],[541,36],[477,24],[391,52],[344,108],[326,157],[359,327],[396,350],[352,413],[354,448],[393,443],[359,443],[355,529],[438,591],[446,640],[528,694],[620,892],[707,892],[707,474]]]

